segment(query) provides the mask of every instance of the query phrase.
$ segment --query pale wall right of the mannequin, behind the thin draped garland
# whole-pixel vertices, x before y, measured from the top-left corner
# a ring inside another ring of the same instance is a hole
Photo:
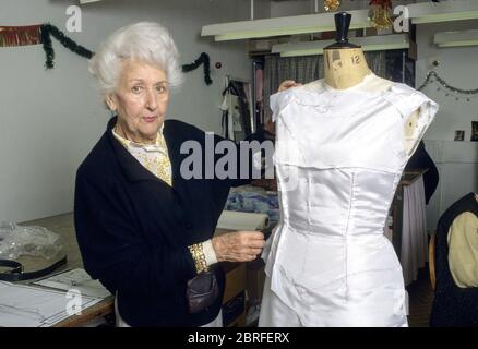
[[[478,88],[478,47],[438,48],[433,35],[439,32],[478,28],[478,21],[421,24],[417,29],[417,86],[425,81],[432,62],[434,70],[449,84],[464,89]],[[471,121],[478,121],[478,98],[456,101],[437,91],[438,84],[423,89],[440,105],[434,122],[426,134],[426,147],[440,173],[440,183],[427,206],[429,230],[437,228],[443,212],[469,192],[478,192],[478,142],[469,142]],[[465,130],[465,142],[454,142],[455,130]]]

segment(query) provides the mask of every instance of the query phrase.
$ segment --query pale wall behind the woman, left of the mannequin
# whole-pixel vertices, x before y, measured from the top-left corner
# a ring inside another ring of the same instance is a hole
[[[75,0],[2,0],[1,25],[50,22],[65,31],[67,7]],[[220,92],[225,74],[249,79],[246,43],[216,45],[201,38],[202,25],[247,19],[249,8],[237,0],[105,0],[84,5],[82,33],[68,33],[95,50],[113,29],[138,21],[169,27],[181,62],[205,51],[213,85],[202,69],[186,74],[172,96],[169,118],[204,130],[220,130]],[[53,39],[56,68],[44,69],[41,46],[0,48],[0,219],[24,221],[71,212],[77,166],[105,131],[104,109],[87,61]],[[214,63],[223,68],[216,70]]]

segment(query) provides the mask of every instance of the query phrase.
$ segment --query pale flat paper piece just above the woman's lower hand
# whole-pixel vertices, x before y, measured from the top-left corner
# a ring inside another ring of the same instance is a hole
[[[267,215],[236,210],[223,210],[217,222],[217,228],[228,230],[262,230],[267,227]]]

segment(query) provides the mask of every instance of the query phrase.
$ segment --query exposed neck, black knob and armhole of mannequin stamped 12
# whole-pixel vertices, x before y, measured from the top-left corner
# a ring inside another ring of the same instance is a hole
[[[350,87],[363,88],[368,92],[381,92],[392,87],[393,82],[374,75],[367,64],[366,57],[360,46],[348,43],[347,34],[351,15],[340,12],[335,15],[337,29],[336,43],[324,49],[325,83],[335,89]],[[368,77],[367,84],[358,86]],[[304,85],[308,88],[308,85]],[[403,145],[407,153],[418,145],[413,137],[417,128],[419,110],[413,113],[404,125]]]

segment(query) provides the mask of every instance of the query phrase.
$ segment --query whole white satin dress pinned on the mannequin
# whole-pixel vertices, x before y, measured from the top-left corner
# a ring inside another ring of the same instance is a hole
[[[402,267],[383,229],[411,153],[404,123],[420,108],[418,144],[438,105],[394,83],[325,82],[271,97],[280,221],[264,250],[260,326],[407,326]]]

